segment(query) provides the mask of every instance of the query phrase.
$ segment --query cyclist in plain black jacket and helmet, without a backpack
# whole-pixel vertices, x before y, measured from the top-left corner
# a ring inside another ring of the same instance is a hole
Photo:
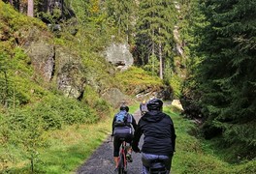
[[[132,148],[140,152],[140,138],[144,134],[142,147],[143,174],[148,174],[152,160],[163,160],[168,172],[176,149],[176,132],[171,117],[162,112],[163,102],[153,99],[147,102],[148,112],[139,120],[134,134]]]

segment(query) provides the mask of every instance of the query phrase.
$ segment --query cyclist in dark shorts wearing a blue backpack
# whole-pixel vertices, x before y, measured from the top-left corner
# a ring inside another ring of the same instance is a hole
[[[125,112],[125,123],[124,124],[116,124],[116,120],[118,117],[118,114],[120,112]],[[122,143],[122,140],[120,138],[125,138],[125,141],[129,144],[131,144],[131,141],[133,139],[134,130],[137,127],[137,123],[133,117],[132,114],[129,113],[129,107],[127,105],[121,105],[120,111],[116,113],[112,120],[112,136],[113,136],[113,160],[115,163],[115,171],[117,169],[118,165],[118,156],[119,156],[119,149]],[[129,162],[132,162],[132,148],[130,147],[127,152],[127,160]]]

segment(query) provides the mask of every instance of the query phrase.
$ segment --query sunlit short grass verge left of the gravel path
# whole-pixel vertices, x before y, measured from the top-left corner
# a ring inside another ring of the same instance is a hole
[[[62,130],[48,131],[48,146],[38,150],[36,173],[75,173],[78,166],[111,133],[111,123],[112,117],[109,117],[97,124],[73,125]],[[7,173],[29,173],[28,166],[27,160],[20,167],[11,167]]]

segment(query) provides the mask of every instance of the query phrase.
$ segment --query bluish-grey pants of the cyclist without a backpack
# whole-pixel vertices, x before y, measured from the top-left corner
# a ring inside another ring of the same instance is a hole
[[[168,170],[167,173],[170,173],[171,165],[172,165],[172,159],[173,159],[173,156],[153,155],[153,154],[142,153],[142,160],[143,160],[142,174],[148,174],[149,173],[149,167],[150,167],[150,164],[151,164],[152,160],[162,160],[162,161],[164,161],[165,166]]]

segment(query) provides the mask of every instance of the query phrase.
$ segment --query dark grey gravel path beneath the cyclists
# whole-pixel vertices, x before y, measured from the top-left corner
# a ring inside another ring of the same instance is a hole
[[[141,117],[140,110],[134,114],[137,123]],[[140,147],[143,138],[141,138]],[[112,174],[114,162],[112,158],[112,137],[109,136],[105,142],[92,154],[92,156],[80,166],[77,174]],[[141,154],[132,154],[133,162],[128,162],[128,174],[140,174],[142,168]]]

